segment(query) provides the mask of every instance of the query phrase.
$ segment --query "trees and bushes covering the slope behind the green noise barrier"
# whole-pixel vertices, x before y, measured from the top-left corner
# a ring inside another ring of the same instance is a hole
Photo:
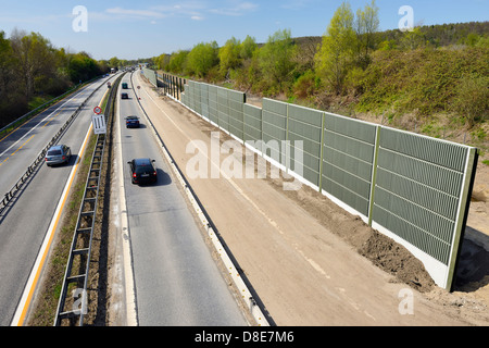
[[[200,42],[162,54],[153,64],[337,112],[454,112],[469,125],[487,117],[489,22],[379,32],[378,11],[375,0],[355,12],[346,1],[323,37],[292,38],[288,29],[264,44],[233,37],[223,47]]]

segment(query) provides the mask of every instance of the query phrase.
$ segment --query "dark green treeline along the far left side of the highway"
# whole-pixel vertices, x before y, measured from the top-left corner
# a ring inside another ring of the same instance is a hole
[[[111,62],[58,49],[38,33],[0,32],[0,127],[110,69]]]

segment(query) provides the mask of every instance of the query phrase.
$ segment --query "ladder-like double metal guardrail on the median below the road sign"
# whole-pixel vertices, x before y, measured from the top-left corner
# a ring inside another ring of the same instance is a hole
[[[112,112],[112,100],[116,97],[116,86],[121,82],[120,76],[111,89],[108,99],[105,114]],[[68,320],[70,325],[84,325],[85,315],[88,313],[87,285],[89,281],[91,245],[95,221],[98,207],[100,175],[103,164],[106,135],[100,134],[93,150],[90,170],[85,185],[85,194],[78,212],[75,233],[72,240],[67,266],[63,279],[60,300],[58,303],[54,326],[61,326],[63,321]],[[75,272],[78,270],[78,272]],[[72,285],[75,285],[73,288]],[[73,302],[67,302],[67,295],[73,291]],[[76,298],[76,299],[75,299]],[[70,308],[70,309],[67,309]]]

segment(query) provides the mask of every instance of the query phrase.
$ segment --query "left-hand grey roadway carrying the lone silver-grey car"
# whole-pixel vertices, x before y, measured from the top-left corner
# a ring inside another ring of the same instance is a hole
[[[102,78],[89,84],[0,141],[0,195],[4,195],[26,172],[66,120],[100,87],[59,140],[59,144],[66,144],[72,149],[70,163],[55,167],[39,164],[34,175],[0,215],[1,326],[12,323],[45,237],[53,217],[57,217],[54,214],[60,198],[79,161],[82,146],[91,124],[92,110],[101,102],[108,89],[104,86],[106,80],[108,78]],[[32,297],[28,297],[26,304],[30,300]]]

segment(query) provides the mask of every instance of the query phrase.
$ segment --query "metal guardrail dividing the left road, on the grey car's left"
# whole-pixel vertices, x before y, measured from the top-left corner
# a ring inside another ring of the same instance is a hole
[[[102,87],[103,84],[97,87],[90,96],[88,96],[87,99],[76,109],[76,111],[70,116],[70,119],[65,122],[65,124],[61,127],[61,129],[52,137],[52,139],[48,142],[48,145],[42,149],[42,151],[39,152],[36,160],[27,167],[27,171],[21,176],[21,178],[15,183],[15,185],[3,196],[3,199],[0,201],[0,214],[3,213],[3,211],[9,206],[9,202],[15,197],[15,194],[22,188],[24,183],[35,173],[36,169],[38,167],[39,163],[42,162],[45,159],[46,152],[49,150],[51,146],[58,142],[58,140],[61,138],[61,136],[64,134],[64,132],[68,128],[68,126],[72,124],[73,120],[79,114],[82,109],[85,107],[85,104],[90,100],[90,98]]]

